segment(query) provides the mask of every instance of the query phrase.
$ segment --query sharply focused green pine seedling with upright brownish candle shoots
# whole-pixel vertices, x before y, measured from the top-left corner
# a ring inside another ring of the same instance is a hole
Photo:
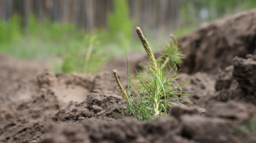
[[[140,81],[140,84],[136,85],[141,91],[135,91],[131,93],[129,90],[129,77],[128,77],[128,55],[127,55],[127,83],[128,88],[125,90],[118,79],[116,71],[113,71],[116,83],[122,91],[125,101],[120,101],[124,104],[124,107],[117,107],[128,116],[134,116],[137,120],[148,121],[154,117],[162,117],[167,115],[168,108],[173,105],[181,105],[179,100],[192,103],[192,101],[181,98],[179,95],[190,95],[186,92],[193,91],[179,91],[188,81],[178,83],[177,77],[178,72],[174,73],[174,76],[170,76],[172,70],[164,75],[162,66],[155,59],[155,56],[151,50],[148,41],[143,36],[142,31],[139,27],[136,28],[136,32],[142,42],[145,52],[147,53],[150,63],[148,72],[145,74],[136,71],[136,77]],[[150,73],[150,74],[147,74]]]

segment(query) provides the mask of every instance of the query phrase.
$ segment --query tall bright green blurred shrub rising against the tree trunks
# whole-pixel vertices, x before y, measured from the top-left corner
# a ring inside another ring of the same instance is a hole
[[[108,15],[110,40],[120,45],[129,44],[132,40],[133,21],[129,18],[128,2],[127,0],[113,0],[113,8],[114,11]]]

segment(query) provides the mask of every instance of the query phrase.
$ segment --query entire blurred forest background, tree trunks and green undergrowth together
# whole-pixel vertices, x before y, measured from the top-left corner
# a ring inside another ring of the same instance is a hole
[[[136,26],[158,50],[170,33],[251,8],[255,0],[0,0],[0,52],[95,74],[125,48],[143,50]]]

